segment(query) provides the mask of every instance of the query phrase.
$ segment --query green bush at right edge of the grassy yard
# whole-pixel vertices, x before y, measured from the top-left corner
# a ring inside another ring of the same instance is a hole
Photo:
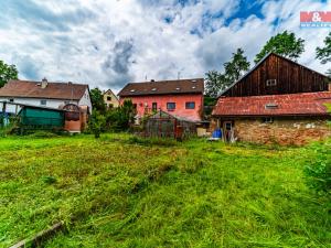
[[[331,143],[316,144],[316,159],[305,168],[308,186],[317,192],[331,192]]]

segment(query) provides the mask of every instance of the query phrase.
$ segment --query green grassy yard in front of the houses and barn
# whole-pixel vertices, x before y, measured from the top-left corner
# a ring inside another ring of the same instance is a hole
[[[330,247],[310,148],[146,142],[127,134],[0,140],[0,247],[64,220],[45,247]],[[330,205],[329,205],[330,207]]]

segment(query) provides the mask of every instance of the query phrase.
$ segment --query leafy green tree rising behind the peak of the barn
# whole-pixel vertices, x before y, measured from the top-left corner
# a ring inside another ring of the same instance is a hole
[[[263,50],[256,54],[254,62],[258,63],[270,52],[296,61],[305,52],[305,40],[297,39],[295,33],[288,33],[287,31],[278,33],[267,41]]]

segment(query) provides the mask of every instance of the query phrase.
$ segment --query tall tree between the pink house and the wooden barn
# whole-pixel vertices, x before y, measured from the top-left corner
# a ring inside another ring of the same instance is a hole
[[[235,83],[249,68],[249,62],[244,56],[244,51],[237,48],[236,53],[232,54],[229,62],[223,64],[224,73],[210,71],[206,73],[205,93],[211,97],[217,97],[218,94]]]

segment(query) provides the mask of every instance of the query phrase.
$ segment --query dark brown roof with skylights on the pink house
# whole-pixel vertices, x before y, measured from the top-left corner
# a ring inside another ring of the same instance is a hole
[[[203,94],[203,78],[129,83],[119,96],[167,95],[167,94]]]

